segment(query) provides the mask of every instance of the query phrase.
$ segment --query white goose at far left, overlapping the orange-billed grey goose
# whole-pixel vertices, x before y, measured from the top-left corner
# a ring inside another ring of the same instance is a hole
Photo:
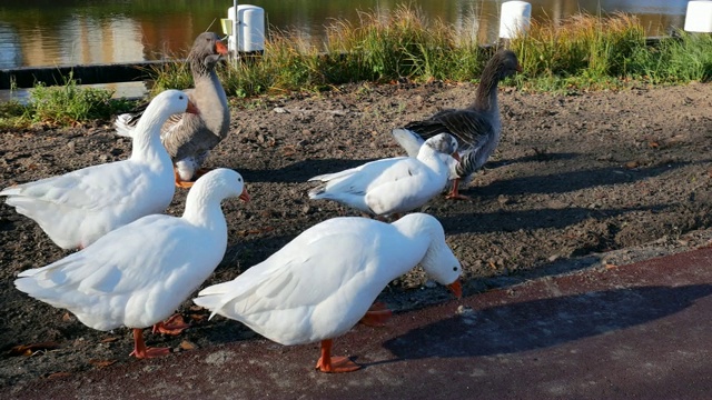
[[[160,127],[171,114],[185,111],[198,112],[184,92],[164,91],[136,127],[129,159],[10,187],[0,196],[62,249],[87,247],[118,227],[164,212],[175,187]]]

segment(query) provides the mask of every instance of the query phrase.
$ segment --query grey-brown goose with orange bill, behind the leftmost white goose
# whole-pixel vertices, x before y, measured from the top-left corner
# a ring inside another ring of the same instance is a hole
[[[200,113],[176,114],[161,128],[161,142],[174,161],[177,187],[189,188],[194,178],[206,172],[200,167],[210,150],[228,133],[230,110],[215,72],[224,54],[227,54],[227,47],[216,33],[204,32],[196,38],[188,54],[195,87],[185,92]],[[145,107],[140,107],[118,116],[117,133],[130,137],[144,110]]]

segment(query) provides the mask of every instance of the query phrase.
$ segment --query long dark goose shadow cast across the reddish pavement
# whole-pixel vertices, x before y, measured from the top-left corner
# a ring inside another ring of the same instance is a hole
[[[472,310],[388,340],[384,347],[398,359],[386,362],[496,356],[553,347],[664,318],[710,294],[710,284],[652,286]]]

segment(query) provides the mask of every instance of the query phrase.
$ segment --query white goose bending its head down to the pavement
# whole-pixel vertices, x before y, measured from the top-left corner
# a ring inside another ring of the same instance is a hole
[[[316,368],[349,372],[359,367],[330,356],[333,339],[366,314],[388,282],[418,263],[462,296],[462,268],[434,217],[412,213],[390,224],[334,218],[301,232],[235,280],[201,290],[192,301],[281,344],[322,341]]]

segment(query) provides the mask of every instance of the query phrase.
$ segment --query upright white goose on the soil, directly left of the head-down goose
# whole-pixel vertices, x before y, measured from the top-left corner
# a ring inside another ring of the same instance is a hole
[[[137,358],[167,354],[169,349],[146,348],[142,328],[170,316],[222,260],[227,224],[220,201],[230,197],[249,200],[243,177],[216,169],[198,179],[181,218],[138,219],[81,251],[21,272],[14,286],[93,329],[132,328]]]

